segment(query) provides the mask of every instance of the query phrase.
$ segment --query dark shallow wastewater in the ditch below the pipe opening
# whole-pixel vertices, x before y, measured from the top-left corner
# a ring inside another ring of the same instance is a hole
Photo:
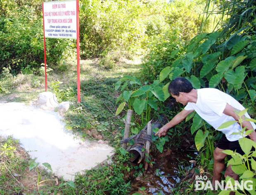
[[[171,194],[187,170],[192,168],[191,160],[197,155],[189,150],[164,150],[152,160],[155,164],[131,181],[131,192],[150,195]]]

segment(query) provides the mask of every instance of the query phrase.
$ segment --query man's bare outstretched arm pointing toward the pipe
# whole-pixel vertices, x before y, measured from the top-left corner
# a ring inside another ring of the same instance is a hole
[[[179,124],[181,121],[183,121],[187,117],[187,115],[189,115],[193,111],[194,110],[185,110],[185,109],[183,109],[180,113],[175,115],[175,117],[173,117],[173,119],[170,122],[168,122],[166,125],[164,125],[164,127],[159,129],[158,132],[156,132],[155,136],[156,135],[158,135],[159,137],[165,136],[168,129],[170,129],[171,127]]]

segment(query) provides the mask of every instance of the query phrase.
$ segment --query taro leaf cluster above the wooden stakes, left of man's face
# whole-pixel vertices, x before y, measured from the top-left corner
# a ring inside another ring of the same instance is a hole
[[[170,73],[170,68],[164,68],[160,75],[159,80],[155,80],[151,85],[147,82],[142,85],[142,82],[135,77],[125,76],[115,84],[116,91],[121,87],[121,94],[119,95],[116,103],[123,101],[116,110],[116,115],[119,115],[125,108],[126,104],[128,109],[133,109],[137,115],[140,115],[142,123],[150,120],[150,113],[152,108],[157,110],[160,102],[164,102],[170,94],[168,93],[168,83],[164,85],[162,81]],[[131,89],[128,85],[130,84]]]

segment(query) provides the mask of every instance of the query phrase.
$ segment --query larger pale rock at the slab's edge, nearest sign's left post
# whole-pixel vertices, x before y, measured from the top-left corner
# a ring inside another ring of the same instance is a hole
[[[35,106],[39,106],[43,110],[54,110],[59,105],[57,97],[52,92],[43,92],[37,96],[37,101],[34,102]]]

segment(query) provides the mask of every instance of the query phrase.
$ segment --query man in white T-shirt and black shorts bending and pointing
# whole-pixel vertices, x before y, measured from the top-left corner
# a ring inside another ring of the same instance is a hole
[[[187,106],[185,106],[180,113],[175,115],[170,122],[156,132],[155,135],[158,135],[159,137],[165,136],[168,129],[183,121],[187,115],[192,113],[194,110],[213,128],[217,129],[221,124],[229,120],[238,121],[239,116],[234,112],[234,110],[245,109],[232,96],[221,92],[218,89],[194,89],[192,84],[183,77],[178,77],[172,80],[168,86],[168,92],[171,93],[176,101]],[[244,116],[250,118],[248,113]],[[246,130],[256,129],[256,125],[253,122],[242,122],[242,127],[246,126]],[[237,122],[230,127],[220,129],[220,131],[223,132],[223,136],[213,153],[213,186],[215,185],[215,181],[221,180],[221,172],[225,168],[224,159],[227,155],[222,153],[222,151],[236,150],[238,153],[242,155],[244,154],[238,143],[238,140],[242,138],[242,136],[238,134],[231,135],[233,132],[239,132],[238,129],[241,129],[241,127]],[[253,131],[249,134],[249,138],[256,142],[256,132]],[[238,175],[232,171],[231,165],[228,166],[225,171],[225,177],[226,176],[230,176],[233,179],[238,180]]]

